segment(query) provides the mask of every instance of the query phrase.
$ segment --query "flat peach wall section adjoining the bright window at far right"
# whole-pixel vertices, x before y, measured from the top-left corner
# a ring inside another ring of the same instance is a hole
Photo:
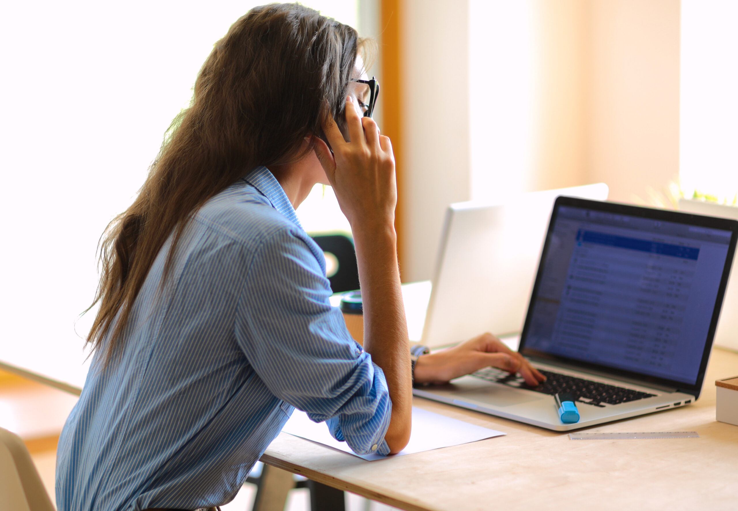
[[[678,0],[591,0],[587,167],[610,200],[679,172]]]

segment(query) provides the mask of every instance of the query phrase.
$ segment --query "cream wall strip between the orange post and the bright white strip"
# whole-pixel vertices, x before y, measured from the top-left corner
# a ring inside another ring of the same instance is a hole
[[[428,279],[446,205],[469,199],[466,1],[407,0],[404,49],[404,282]]]

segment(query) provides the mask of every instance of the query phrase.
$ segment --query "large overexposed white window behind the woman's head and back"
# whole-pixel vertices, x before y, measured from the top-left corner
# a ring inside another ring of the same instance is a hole
[[[97,286],[100,234],[133,201],[215,41],[261,3],[4,7],[1,359],[59,378],[79,360],[92,313],[76,333],[74,324]],[[356,0],[303,4],[356,27]],[[332,194],[320,192],[306,204],[306,229],[345,229]],[[326,215],[335,225],[314,220]]]

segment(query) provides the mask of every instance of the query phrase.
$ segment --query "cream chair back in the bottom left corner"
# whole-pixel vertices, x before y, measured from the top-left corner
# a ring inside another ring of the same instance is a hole
[[[0,428],[0,511],[55,511],[18,435]]]

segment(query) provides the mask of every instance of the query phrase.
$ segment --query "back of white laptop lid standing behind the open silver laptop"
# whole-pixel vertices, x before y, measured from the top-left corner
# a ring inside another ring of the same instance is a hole
[[[441,232],[421,343],[444,346],[520,333],[551,208],[559,195],[607,199],[607,184],[451,204]]]

